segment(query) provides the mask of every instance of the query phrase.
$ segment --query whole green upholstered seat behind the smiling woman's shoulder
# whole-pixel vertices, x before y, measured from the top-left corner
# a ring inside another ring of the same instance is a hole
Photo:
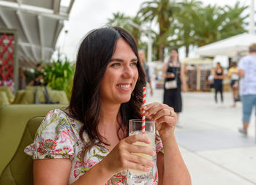
[[[0,108],[0,185],[32,184],[32,159],[24,148],[34,140],[42,118],[67,105],[5,105]]]

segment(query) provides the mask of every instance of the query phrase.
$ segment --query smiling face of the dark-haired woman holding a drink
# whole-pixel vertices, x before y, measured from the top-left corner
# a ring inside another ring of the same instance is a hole
[[[118,39],[102,78],[100,100],[109,104],[128,102],[138,80],[138,58],[124,39]]]

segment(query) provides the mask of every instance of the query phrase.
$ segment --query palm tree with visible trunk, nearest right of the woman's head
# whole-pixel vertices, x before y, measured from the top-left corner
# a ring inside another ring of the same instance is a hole
[[[173,22],[173,13],[178,11],[178,7],[174,0],[151,0],[141,4],[138,12],[139,18],[142,20],[153,22],[157,20],[159,26],[159,39],[166,37],[169,32],[170,25]],[[164,60],[165,56],[165,39],[159,45],[159,59]]]

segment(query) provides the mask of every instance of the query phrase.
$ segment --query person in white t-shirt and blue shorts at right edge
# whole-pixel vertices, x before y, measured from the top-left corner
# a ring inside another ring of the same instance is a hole
[[[238,131],[247,135],[252,107],[256,107],[256,43],[249,46],[249,55],[239,61],[238,75],[241,78],[239,91],[243,105],[243,128]]]

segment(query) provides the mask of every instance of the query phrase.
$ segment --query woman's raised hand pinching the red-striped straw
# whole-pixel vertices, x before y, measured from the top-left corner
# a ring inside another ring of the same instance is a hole
[[[142,109],[146,111],[146,117],[151,121],[156,121],[156,129],[162,140],[174,135],[177,116],[172,107],[154,102],[142,107]]]

